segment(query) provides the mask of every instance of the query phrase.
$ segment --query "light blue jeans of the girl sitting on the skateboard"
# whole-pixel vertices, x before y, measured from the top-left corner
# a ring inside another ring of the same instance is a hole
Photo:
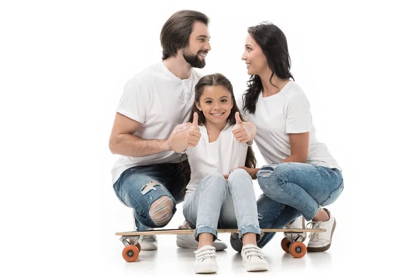
[[[191,228],[200,233],[211,233],[217,238],[217,226],[239,229],[240,238],[246,233],[262,233],[257,217],[256,195],[252,178],[245,170],[233,170],[225,180],[220,173],[207,175],[195,192],[187,195],[184,217]]]

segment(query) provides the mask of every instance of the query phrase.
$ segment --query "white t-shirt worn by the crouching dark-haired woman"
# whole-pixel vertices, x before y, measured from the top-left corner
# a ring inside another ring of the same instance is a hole
[[[342,170],[324,143],[316,138],[309,101],[302,88],[291,81],[279,93],[263,98],[260,93],[254,114],[243,112],[242,96],[236,100],[243,117],[254,123],[254,141],[270,164],[291,156],[288,134],[309,132],[309,154],[306,163]]]

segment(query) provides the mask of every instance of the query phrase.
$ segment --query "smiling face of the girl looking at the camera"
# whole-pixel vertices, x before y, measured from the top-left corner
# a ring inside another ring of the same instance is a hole
[[[198,110],[205,116],[205,124],[211,123],[224,127],[234,103],[232,95],[223,86],[207,86],[202,92],[199,102],[196,102]]]

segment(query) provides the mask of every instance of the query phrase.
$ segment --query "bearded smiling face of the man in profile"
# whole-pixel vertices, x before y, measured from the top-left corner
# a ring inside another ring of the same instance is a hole
[[[202,69],[205,66],[205,57],[210,50],[208,27],[202,22],[196,21],[189,37],[189,44],[182,51],[184,59],[192,67]]]

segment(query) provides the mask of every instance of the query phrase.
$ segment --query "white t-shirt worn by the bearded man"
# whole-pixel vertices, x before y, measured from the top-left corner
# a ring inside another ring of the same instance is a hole
[[[191,77],[182,80],[171,73],[163,62],[149,66],[125,84],[116,112],[143,124],[135,136],[141,139],[168,139],[177,124],[188,122],[195,98],[195,85],[201,77],[192,69]],[[113,184],[128,168],[178,163],[181,157],[181,154],[173,151],[147,157],[121,155],[112,168]]]

